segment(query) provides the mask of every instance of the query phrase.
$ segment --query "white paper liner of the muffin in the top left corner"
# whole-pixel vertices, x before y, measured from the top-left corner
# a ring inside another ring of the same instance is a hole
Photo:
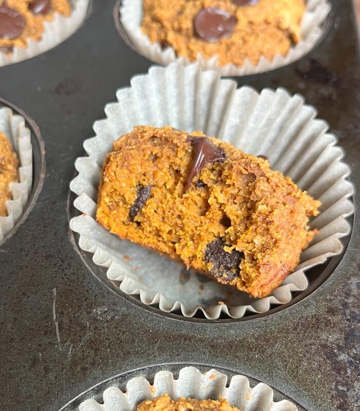
[[[89,0],[70,0],[70,3],[73,6],[70,16],[65,17],[56,13],[54,20],[44,22],[44,33],[39,42],[28,39],[25,48],[14,47],[10,54],[0,52],[0,67],[45,53],[74,34],[85,20]]]

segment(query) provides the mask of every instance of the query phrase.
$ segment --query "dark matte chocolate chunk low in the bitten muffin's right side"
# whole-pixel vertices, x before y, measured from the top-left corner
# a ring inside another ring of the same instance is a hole
[[[212,264],[210,274],[214,278],[231,281],[240,275],[239,265],[244,258],[244,253],[237,250],[227,253],[224,247],[226,247],[225,241],[220,237],[210,242],[205,249],[205,263]]]

